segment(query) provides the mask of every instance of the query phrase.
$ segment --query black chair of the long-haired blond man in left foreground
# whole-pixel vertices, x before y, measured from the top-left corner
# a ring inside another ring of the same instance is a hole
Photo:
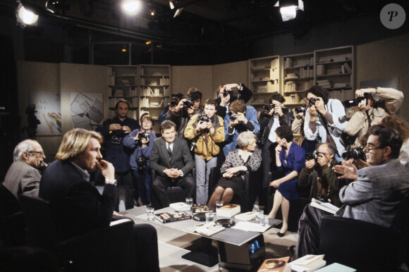
[[[22,195],[20,204],[28,245],[52,252],[62,271],[135,271],[133,221],[114,221],[105,228],[59,241],[47,201]]]

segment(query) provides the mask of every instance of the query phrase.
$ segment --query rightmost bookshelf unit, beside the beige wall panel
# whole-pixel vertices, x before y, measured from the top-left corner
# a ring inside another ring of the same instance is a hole
[[[315,84],[329,90],[329,98],[355,97],[355,50],[353,46],[314,51]]]

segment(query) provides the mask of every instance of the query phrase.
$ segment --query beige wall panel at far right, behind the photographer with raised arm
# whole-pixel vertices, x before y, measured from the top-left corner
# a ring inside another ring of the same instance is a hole
[[[398,116],[409,121],[409,34],[358,45],[355,51],[356,82],[399,77],[399,89],[405,95]]]

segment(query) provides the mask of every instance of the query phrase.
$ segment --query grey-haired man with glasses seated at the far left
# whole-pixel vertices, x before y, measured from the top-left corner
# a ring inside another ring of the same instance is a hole
[[[18,194],[30,194],[38,196],[39,180],[41,173],[38,168],[45,159],[41,145],[35,140],[24,140],[17,144],[13,152],[14,162],[8,168],[4,187],[7,188],[16,199]]]

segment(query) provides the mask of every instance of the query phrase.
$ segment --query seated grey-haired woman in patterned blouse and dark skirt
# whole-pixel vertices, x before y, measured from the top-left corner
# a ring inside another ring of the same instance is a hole
[[[224,204],[228,204],[234,194],[243,196],[245,171],[257,171],[262,161],[262,151],[257,148],[256,139],[249,131],[238,135],[237,144],[240,148],[228,152],[226,161],[220,168],[222,178],[210,197],[210,205],[214,205],[216,200],[223,200]]]

